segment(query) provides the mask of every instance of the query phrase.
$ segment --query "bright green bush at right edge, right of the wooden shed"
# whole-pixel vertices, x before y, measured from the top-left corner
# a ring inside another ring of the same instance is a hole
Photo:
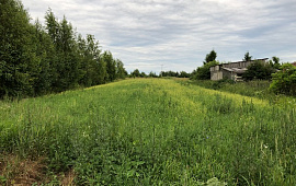
[[[286,95],[296,95],[296,68],[291,63],[282,66],[281,70],[272,74],[270,90]]]

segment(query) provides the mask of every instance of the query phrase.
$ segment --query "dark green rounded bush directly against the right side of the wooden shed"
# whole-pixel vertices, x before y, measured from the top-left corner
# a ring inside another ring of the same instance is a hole
[[[248,70],[242,74],[242,78],[246,81],[271,80],[273,72],[275,72],[275,70],[270,63],[258,60],[248,67]]]

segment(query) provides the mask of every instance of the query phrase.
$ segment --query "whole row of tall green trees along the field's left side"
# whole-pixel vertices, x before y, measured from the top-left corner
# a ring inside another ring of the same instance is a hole
[[[49,9],[45,26],[30,23],[18,0],[0,2],[0,98],[37,96],[123,79],[124,63],[93,35],[77,34]]]

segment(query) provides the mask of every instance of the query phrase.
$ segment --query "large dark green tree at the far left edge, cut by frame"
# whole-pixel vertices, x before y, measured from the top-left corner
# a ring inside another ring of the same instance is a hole
[[[0,10],[0,98],[32,95],[32,84],[39,72],[34,27],[19,1],[3,0]]]

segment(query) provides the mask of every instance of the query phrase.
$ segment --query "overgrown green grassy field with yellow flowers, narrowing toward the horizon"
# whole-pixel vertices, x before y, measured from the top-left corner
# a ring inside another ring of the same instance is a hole
[[[130,79],[0,102],[0,118],[2,184],[296,185],[295,107],[254,97]]]

